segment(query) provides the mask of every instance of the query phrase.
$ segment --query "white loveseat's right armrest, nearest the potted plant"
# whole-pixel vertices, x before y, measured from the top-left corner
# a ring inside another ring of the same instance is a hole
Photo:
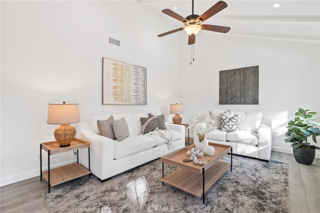
[[[262,118],[261,127],[258,130],[258,158],[270,160],[272,149],[272,120]]]

